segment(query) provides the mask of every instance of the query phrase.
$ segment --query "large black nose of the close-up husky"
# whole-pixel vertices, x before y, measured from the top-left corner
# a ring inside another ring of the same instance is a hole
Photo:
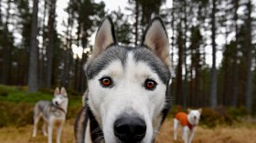
[[[146,125],[140,117],[122,117],[114,122],[114,135],[123,142],[138,142],[144,138]]]

